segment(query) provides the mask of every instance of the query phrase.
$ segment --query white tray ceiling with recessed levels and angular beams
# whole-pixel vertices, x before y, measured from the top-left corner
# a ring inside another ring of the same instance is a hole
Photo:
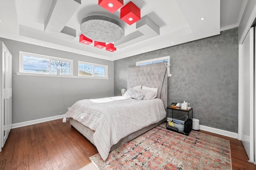
[[[124,0],[124,4],[129,1]],[[120,20],[120,9],[111,14],[98,6],[98,0],[0,0],[0,37],[115,61],[238,27],[247,0],[133,2],[141,9],[141,18],[147,16],[160,28],[160,35],[142,35],[136,23],[128,25]],[[79,43],[81,21],[91,15],[108,16],[122,24],[125,37],[123,42],[116,42],[116,51]],[[74,29],[75,36],[61,33],[64,26]]]

